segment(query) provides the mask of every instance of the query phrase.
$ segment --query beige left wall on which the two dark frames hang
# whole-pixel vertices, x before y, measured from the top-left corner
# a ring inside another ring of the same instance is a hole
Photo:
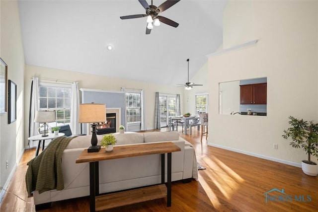
[[[17,85],[16,121],[8,124],[7,113],[0,115],[0,187],[3,187],[24,150],[24,55],[17,1],[1,0],[0,7],[0,57],[8,66],[8,79]],[[7,169],[6,160],[8,160]]]

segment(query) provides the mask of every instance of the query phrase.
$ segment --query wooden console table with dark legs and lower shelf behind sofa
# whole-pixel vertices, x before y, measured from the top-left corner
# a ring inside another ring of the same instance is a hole
[[[102,147],[99,152],[87,152],[79,155],[76,163],[89,162],[89,202],[90,212],[111,209],[134,203],[167,197],[167,207],[171,206],[171,152],[181,151],[173,142],[143,143],[114,146],[113,151],[106,152]],[[167,153],[167,183],[164,185],[164,153]],[[122,191],[112,194],[99,194],[98,161],[149,154],[161,154],[161,184]],[[127,196],[130,198],[127,198]]]

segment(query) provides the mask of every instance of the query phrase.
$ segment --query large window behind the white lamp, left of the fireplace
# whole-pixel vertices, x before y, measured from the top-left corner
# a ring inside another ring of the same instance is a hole
[[[40,110],[55,110],[56,122],[51,127],[71,123],[72,88],[67,85],[39,84]]]

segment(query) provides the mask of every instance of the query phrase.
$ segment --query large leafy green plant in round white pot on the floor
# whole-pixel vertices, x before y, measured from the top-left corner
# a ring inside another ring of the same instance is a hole
[[[308,158],[302,161],[303,172],[310,176],[318,175],[318,165],[311,160],[311,155],[318,157],[318,124],[313,121],[299,120],[292,116],[288,117],[291,127],[284,130],[284,139],[291,138],[294,148],[303,148]]]

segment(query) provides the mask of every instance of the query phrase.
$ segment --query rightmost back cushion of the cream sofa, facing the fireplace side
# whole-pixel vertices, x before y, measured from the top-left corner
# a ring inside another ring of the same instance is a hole
[[[178,141],[179,133],[176,131],[168,132],[150,132],[144,133],[144,142],[158,142],[158,141]]]

